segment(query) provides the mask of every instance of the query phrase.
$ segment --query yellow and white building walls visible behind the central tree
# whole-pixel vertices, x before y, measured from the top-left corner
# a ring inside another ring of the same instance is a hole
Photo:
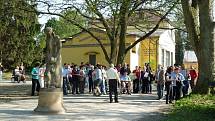
[[[108,41],[105,40],[107,37],[102,33],[95,33],[96,36],[102,39],[105,44],[108,54],[110,53],[110,45]],[[126,43],[132,43],[137,40],[138,37],[131,35],[127,36]],[[127,53],[125,57],[125,62],[130,64],[131,70],[135,69],[135,66],[143,67],[145,63],[151,64],[152,69],[155,71],[158,64],[162,64],[162,49],[164,51],[164,56],[166,53],[170,52],[171,57],[173,57],[173,62],[175,59],[175,43],[174,43],[174,32],[167,30],[164,31],[160,37],[150,37],[139,44]],[[75,63],[80,64],[81,62],[89,62],[89,55],[96,54],[96,63],[108,65],[105,59],[103,51],[96,40],[94,40],[87,33],[82,33],[77,37],[73,38],[71,41],[67,41],[63,44],[62,48],[62,62],[63,63]],[[170,57],[170,58],[171,58]],[[166,63],[166,59],[165,62]],[[167,65],[164,65],[167,66]]]

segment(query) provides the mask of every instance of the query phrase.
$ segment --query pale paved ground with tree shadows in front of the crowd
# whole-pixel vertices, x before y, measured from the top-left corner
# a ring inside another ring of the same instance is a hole
[[[169,109],[153,94],[121,95],[119,103],[109,103],[108,96],[68,95],[64,97],[66,114],[38,115],[33,112],[38,97],[0,100],[0,121],[159,121]]]

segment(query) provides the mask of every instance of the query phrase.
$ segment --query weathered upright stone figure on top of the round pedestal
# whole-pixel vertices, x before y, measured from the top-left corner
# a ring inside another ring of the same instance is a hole
[[[46,33],[46,88],[62,87],[61,41],[55,35],[51,27],[47,27]]]

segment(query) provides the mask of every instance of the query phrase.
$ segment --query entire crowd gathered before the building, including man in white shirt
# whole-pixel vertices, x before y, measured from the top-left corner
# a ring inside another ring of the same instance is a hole
[[[178,100],[188,94],[189,86],[194,88],[197,73],[182,66],[170,66],[166,70],[159,66],[155,73],[149,63],[142,68],[136,66],[133,71],[128,64],[109,67],[101,64],[67,64],[63,65],[63,94],[89,93],[95,96],[106,95],[109,92],[110,102],[118,102],[118,93],[151,94],[153,81],[157,83],[158,99],[163,99],[166,90],[166,103]],[[44,88],[45,65],[36,65],[32,70],[32,96],[35,91]],[[120,90],[120,91],[118,91]]]

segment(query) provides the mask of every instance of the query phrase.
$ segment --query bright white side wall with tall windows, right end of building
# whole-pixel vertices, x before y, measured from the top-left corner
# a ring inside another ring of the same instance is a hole
[[[175,63],[175,32],[166,30],[159,37],[158,64],[167,68]]]

